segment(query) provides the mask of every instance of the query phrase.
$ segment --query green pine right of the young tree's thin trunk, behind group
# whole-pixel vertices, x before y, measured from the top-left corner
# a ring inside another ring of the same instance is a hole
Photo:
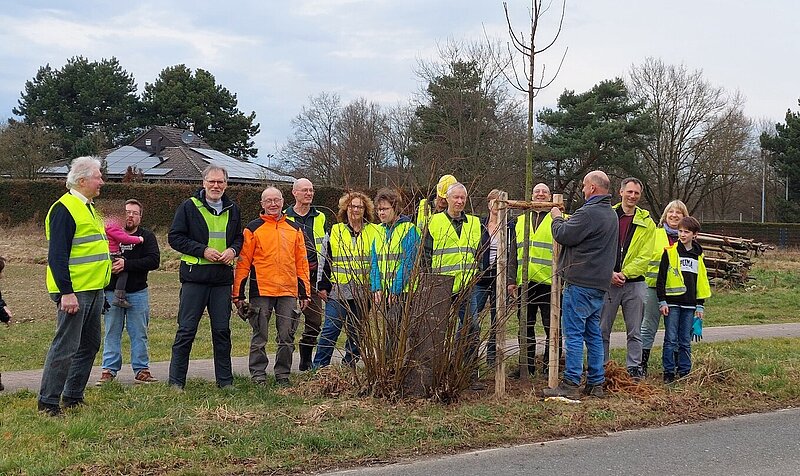
[[[633,169],[652,131],[643,103],[630,99],[620,78],[580,94],[564,91],[557,109],[542,109],[537,119],[545,126],[539,143],[547,148],[538,162],[547,165],[555,189],[576,200],[582,199],[582,179],[592,170]]]

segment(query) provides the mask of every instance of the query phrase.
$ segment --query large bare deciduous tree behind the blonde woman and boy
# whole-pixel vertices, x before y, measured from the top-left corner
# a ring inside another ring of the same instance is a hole
[[[638,161],[654,210],[678,198],[692,211],[716,190],[743,179],[741,154],[750,121],[741,95],[712,85],[702,71],[654,58],[632,68],[629,89],[654,121],[655,132]]]

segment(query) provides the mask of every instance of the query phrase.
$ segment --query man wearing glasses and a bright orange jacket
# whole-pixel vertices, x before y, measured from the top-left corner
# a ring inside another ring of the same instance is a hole
[[[294,334],[300,310],[308,306],[311,286],[308,258],[300,225],[288,221],[283,210],[283,194],[275,187],[261,193],[262,212],[244,229],[244,245],[236,264],[233,303],[242,319],[253,327],[250,339],[250,376],[254,382],[267,382],[269,359],[265,351],[269,318],[275,311],[278,352],[275,356],[275,381],[289,385],[294,354]],[[242,312],[245,284],[250,278],[250,313]],[[299,302],[298,302],[299,301]],[[257,309],[257,311],[255,311]]]

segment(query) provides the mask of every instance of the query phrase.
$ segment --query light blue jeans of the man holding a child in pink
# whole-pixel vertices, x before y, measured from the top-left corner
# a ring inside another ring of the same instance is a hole
[[[112,374],[122,368],[122,329],[128,330],[131,339],[131,367],[136,375],[150,366],[147,344],[147,326],[150,323],[150,292],[147,288],[128,293],[128,309],[111,306],[106,311],[105,337],[103,339],[103,368]],[[106,300],[114,300],[114,291],[106,291]]]

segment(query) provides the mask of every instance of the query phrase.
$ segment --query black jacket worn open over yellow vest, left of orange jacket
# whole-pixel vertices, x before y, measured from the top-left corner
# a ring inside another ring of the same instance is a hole
[[[205,190],[202,188],[195,194],[203,205],[214,215],[216,210],[208,205]],[[233,248],[238,256],[242,251],[242,217],[239,206],[227,195],[222,195],[222,212],[230,212],[226,228],[225,243]],[[178,253],[203,257],[208,247],[208,226],[192,200],[186,200],[175,211],[175,218],[168,235],[169,245]],[[233,268],[220,264],[188,265],[181,261],[180,280],[182,283],[200,283],[214,286],[233,285]]]

